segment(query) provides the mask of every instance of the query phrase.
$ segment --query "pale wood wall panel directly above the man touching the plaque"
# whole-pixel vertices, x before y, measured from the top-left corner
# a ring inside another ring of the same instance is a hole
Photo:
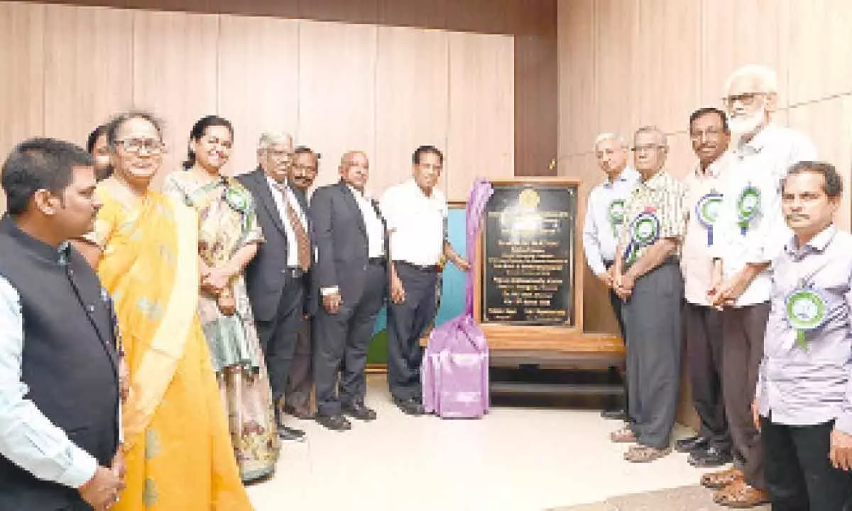
[[[430,144],[446,152],[449,64],[446,32],[379,27],[374,190],[411,175],[417,146]],[[446,190],[447,179],[445,171],[440,188]]]

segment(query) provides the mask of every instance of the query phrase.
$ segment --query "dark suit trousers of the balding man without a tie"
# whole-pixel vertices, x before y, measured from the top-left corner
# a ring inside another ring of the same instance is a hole
[[[317,413],[321,416],[339,414],[341,405],[364,403],[367,348],[388,286],[384,264],[369,264],[364,271],[364,291],[360,298],[344,301],[337,314],[326,312],[320,303],[311,324],[314,387]]]

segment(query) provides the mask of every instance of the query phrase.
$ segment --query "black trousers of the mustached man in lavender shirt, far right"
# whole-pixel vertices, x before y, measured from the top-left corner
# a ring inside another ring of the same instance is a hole
[[[773,511],[852,510],[852,474],[828,459],[833,421],[786,426],[761,417],[760,424]]]

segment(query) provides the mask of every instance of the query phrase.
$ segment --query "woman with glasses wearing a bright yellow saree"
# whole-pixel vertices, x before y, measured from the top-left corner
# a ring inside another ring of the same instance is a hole
[[[121,114],[107,137],[114,174],[83,251],[115,301],[130,366],[127,487],[112,509],[250,510],[196,313],[198,215],[148,188],[163,161],[153,116]]]

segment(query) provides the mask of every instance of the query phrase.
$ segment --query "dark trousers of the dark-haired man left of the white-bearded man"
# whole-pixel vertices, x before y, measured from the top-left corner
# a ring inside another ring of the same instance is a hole
[[[699,435],[720,451],[730,451],[731,435],[722,399],[722,313],[693,303],[683,305],[689,382],[701,420]]]

